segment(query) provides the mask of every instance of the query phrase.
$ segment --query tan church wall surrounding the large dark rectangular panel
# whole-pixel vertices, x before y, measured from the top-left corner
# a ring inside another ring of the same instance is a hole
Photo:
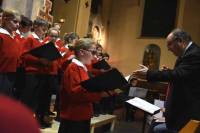
[[[106,50],[111,55],[111,63],[127,75],[138,69],[138,64],[143,60],[145,47],[153,43],[161,48],[160,67],[166,65],[173,68],[176,57],[166,48],[165,38],[139,37],[143,0],[138,3],[132,0],[113,1],[106,44]],[[198,0],[179,1],[176,20],[176,27],[189,32],[197,43],[200,43],[199,7]]]

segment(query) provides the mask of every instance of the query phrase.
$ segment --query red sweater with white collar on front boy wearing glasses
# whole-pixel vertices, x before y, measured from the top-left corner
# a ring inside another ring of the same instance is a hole
[[[80,86],[89,79],[87,68],[77,59],[73,59],[64,72],[61,89],[61,119],[90,120],[93,115],[92,103],[101,99],[97,93],[90,93]]]

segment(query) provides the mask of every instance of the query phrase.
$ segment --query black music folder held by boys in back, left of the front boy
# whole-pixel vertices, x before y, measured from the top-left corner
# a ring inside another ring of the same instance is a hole
[[[35,57],[45,58],[49,61],[53,61],[62,57],[53,42],[48,42],[47,44],[37,47],[29,51],[29,53]]]

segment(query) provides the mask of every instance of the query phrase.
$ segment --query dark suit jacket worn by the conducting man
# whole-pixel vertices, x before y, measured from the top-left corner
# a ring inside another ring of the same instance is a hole
[[[190,119],[200,120],[200,47],[193,43],[173,70],[148,71],[148,81],[167,81],[166,124],[180,130]]]

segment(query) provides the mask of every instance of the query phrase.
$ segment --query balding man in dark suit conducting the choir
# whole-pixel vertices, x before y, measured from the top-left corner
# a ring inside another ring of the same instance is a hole
[[[174,69],[150,71],[142,66],[133,73],[148,81],[169,82],[166,123],[155,127],[155,133],[176,133],[190,119],[200,120],[200,47],[180,29],[167,36],[167,47],[177,56]]]

